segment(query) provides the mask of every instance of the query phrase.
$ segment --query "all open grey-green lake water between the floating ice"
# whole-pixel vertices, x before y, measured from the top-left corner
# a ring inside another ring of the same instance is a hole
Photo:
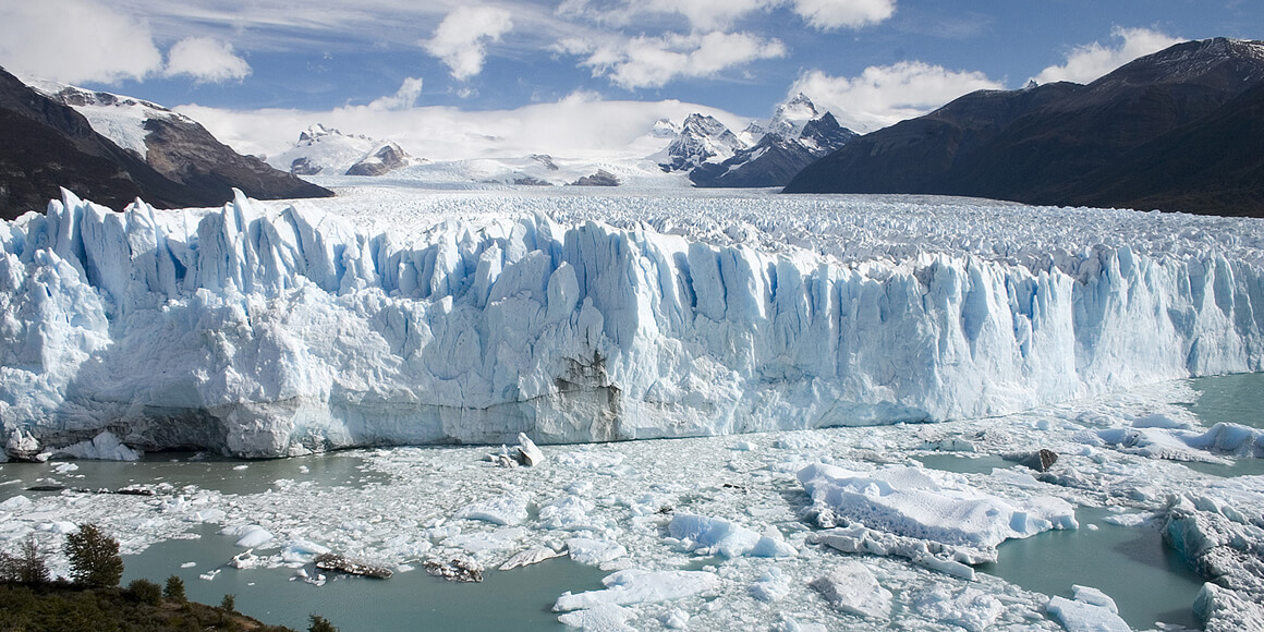
[[[1264,427],[1264,374],[1202,378],[1189,380],[1188,386],[1197,399],[1186,406],[1205,425],[1224,421]],[[758,441],[767,444],[767,439]],[[916,459],[928,468],[972,474],[1015,466],[995,455],[933,454]],[[1200,471],[1211,468],[1206,473],[1216,477],[1237,477],[1260,473],[1261,461],[1264,459],[1235,459],[1231,466],[1189,466]],[[51,482],[85,489],[147,484],[179,490],[192,485],[224,494],[263,494],[276,493],[283,489],[284,482],[293,479],[317,488],[368,490],[389,487],[393,480],[392,474],[370,466],[367,453],[358,450],[265,461],[150,454],[138,463],[75,461],[73,465],[71,468],[68,461],[3,464],[0,502],[16,494],[71,493],[27,490],[30,485]],[[1120,614],[1138,629],[1153,628],[1155,622],[1198,627],[1191,605],[1203,580],[1163,545],[1157,528],[1105,522],[1111,512],[1100,508],[1079,507],[1076,513],[1079,530],[1049,531],[1007,541],[1000,546],[997,564],[977,570],[1048,595],[1069,598],[1072,584],[1098,588],[1116,600]],[[551,612],[557,597],[568,590],[600,589],[600,580],[608,574],[559,557],[511,571],[489,568],[484,571],[484,581],[478,584],[445,581],[415,564],[415,570],[396,573],[388,580],[327,573],[327,583],[316,586],[296,579],[292,568],[238,570],[229,566],[228,561],[243,549],[235,546],[235,536],[221,535],[219,528],[211,523],[191,525],[190,538],[161,541],[139,555],[126,555],[124,583],[147,578],[161,584],[174,574],[183,578],[191,599],[219,604],[225,594],[233,594],[240,612],[296,629],[306,629],[308,614],[315,613],[344,632],[403,628],[559,631],[568,628],[557,622],[557,613]],[[724,564],[722,560],[698,560],[698,565],[713,562]],[[207,580],[201,578],[204,574],[214,576]]]

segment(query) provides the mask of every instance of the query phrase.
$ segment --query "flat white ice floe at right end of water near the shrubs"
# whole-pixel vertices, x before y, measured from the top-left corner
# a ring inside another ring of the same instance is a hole
[[[621,570],[602,580],[603,590],[562,593],[554,604],[556,612],[595,608],[600,604],[628,605],[683,599],[695,594],[713,593],[719,586],[714,573],[702,570]]]

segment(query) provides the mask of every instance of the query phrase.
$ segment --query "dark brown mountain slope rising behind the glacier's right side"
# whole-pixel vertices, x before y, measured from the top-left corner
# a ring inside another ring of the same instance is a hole
[[[791,193],[1264,216],[1264,43],[1186,42],[1088,85],[978,91],[849,142]]]

